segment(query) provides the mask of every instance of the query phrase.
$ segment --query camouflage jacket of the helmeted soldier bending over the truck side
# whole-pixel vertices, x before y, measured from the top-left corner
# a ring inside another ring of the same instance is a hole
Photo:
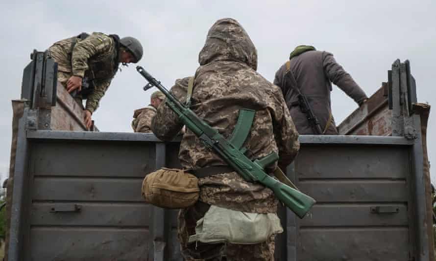
[[[117,41],[118,36],[93,33],[83,40],[72,37],[58,41],[49,48],[59,71],[94,81],[95,89],[89,94],[85,106],[91,112],[98,108],[118,70]]]

